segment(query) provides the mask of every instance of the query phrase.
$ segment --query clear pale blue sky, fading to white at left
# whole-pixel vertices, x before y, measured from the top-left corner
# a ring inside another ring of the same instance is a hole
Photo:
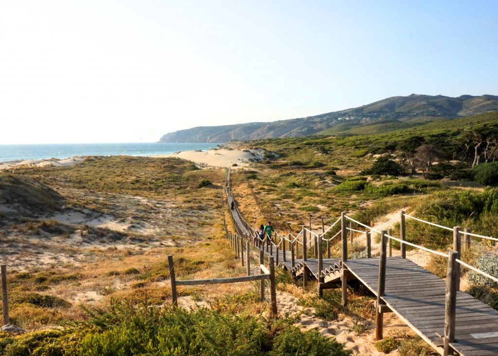
[[[498,95],[498,1],[0,0],[0,144]]]

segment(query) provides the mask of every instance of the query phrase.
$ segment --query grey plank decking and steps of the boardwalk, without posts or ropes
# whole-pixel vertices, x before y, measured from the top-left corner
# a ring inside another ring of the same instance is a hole
[[[228,194],[229,206],[232,196]],[[242,234],[247,230],[237,210],[231,210],[233,221],[239,224]],[[264,246],[266,251],[266,246]],[[270,252],[266,252],[270,254]],[[295,259],[291,262],[290,251],[273,249],[271,255],[279,266],[309,279],[318,280],[318,260]],[[341,278],[341,259],[323,259],[324,282],[333,283]],[[378,288],[379,259],[363,258],[347,260],[348,280],[357,279],[376,296]],[[331,288],[331,287],[326,287]],[[388,257],[386,261],[385,294],[381,301],[403,322],[415,331],[437,352],[443,354],[442,345],[445,324],[446,282],[409,259]],[[464,292],[457,293],[455,342],[450,346],[462,356],[498,355],[498,311]]]

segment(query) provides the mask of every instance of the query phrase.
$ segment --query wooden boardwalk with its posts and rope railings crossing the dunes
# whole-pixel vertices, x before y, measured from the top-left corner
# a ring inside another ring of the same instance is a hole
[[[498,355],[498,311],[459,291],[461,268],[468,268],[498,282],[495,277],[461,260],[461,237],[463,236],[465,241],[469,236],[495,241],[498,239],[472,234],[468,230],[464,232],[458,227],[439,226],[454,231],[455,251],[447,253],[431,250],[405,240],[405,219],[423,220],[404,212],[400,214],[400,238],[387,234],[386,231],[380,230],[380,227],[374,229],[342,213],[327,230],[323,228],[322,233],[303,226],[297,236],[290,233],[280,235],[276,232],[271,238],[266,235],[259,239],[239,211],[231,193],[230,170],[226,186],[227,201],[238,235],[256,243],[260,249],[265,249],[273,256],[277,266],[289,270],[295,277],[302,277],[304,285],[308,279],[317,280],[319,295],[323,289],[341,287],[343,305],[348,303],[348,281],[358,280],[372,291],[377,297],[377,340],[382,339],[383,314],[392,312],[441,355]],[[365,231],[348,228],[347,220],[362,226]],[[323,258],[324,252],[330,257],[331,239],[325,239],[325,234],[339,222],[341,229],[335,236],[341,236],[341,258]],[[353,237],[349,243],[348,230],[365,232],[366,254],[361,256],[363,258],[349,258],[355,256],[355,253],[348,254],[348,247],[351,248],[355,244]],[[377,258],[373,258],[375,253],[372,251],[372,232],[381,235]],[[327,242],[327,251],[322,246],[324,241]],[[392,255],[393,241],[400,246],[400,256],[387,257]],[[446,281],[411,261],[411,255],[407,258],[407,246],[448,258]],[[299,255],[301,258],[298,258]]]

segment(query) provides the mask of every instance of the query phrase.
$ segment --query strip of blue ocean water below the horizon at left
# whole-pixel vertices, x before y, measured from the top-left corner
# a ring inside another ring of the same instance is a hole
[[[66,159],[74,156],[154,156],[178,151],[209,150],[218,144],[122,143],[0,145],[0,162]]]

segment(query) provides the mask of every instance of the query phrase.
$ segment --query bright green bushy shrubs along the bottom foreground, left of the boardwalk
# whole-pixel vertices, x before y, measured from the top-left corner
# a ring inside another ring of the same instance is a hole
[[[301,332],[290,319],[125,303],[114,303],[107,311],[86,311],[88,321],[62,331],[4,338],[0,348],[9,356],[351,355],[316,331]]]

